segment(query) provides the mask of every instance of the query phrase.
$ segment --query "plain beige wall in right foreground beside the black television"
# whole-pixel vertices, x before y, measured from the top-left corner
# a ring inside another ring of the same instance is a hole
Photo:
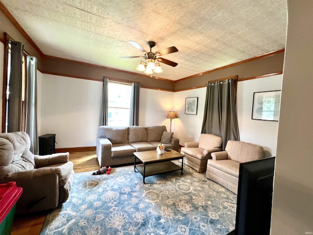
[[[313,234],[312,12],[312,0],[288,0],[272,235]]]

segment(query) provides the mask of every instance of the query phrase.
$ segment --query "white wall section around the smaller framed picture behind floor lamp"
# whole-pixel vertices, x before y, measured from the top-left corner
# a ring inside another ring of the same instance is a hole
[[[174,110],[178,114],[177,119],[172,120],[174,123],[174,136],[179,138],[179,144],[184,145],[185,142],[198,141],[201,134],[203,121],[204,102],[206,95],[206,87],[174,94]],[[185,99],[187,97],[198,97],[197,115],[185,114]]]

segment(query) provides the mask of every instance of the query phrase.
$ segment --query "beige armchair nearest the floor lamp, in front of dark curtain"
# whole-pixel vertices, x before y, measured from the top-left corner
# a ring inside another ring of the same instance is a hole
[[[202,173],[206,170],[207,160],[211,153],[222,151],[222,137],[212,134],[201,134],[198,142],[185,142],[180,153],[185,155],[184,164]]]

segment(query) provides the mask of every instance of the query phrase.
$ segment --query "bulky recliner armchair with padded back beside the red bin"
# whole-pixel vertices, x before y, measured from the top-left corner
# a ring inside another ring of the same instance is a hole
[[[56,208],[67,201],[74,179],[69,153],[38,156],[29,147],[25,132],[0,134],[0,184],[15,181],[23,189],[17,213]]]

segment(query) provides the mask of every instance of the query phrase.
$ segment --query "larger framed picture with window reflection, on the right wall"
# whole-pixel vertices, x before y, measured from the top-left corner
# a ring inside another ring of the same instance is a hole
[[[278,121],[281,91],[253,93],[251,119]]]

